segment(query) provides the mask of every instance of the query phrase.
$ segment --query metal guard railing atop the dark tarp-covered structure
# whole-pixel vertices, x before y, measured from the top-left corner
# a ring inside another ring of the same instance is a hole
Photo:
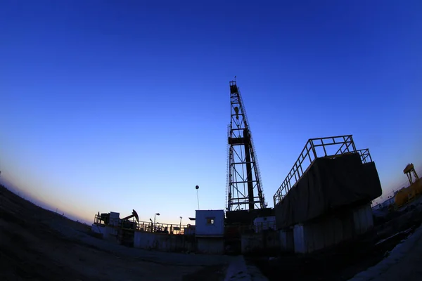
[[[283,200],[287,192],[298,183],[299,179],[307,172],[310,166],[319,157],[338,157],[349,153],[359,153],[362,163],[372,162],[369,149],[357,150],[352,135],[331,136],[326,138],[309,138],[305,148],[300,153],[293,168],[286,179],[281,183],[280,188],[274,195],[274,207]],[[307,165],[307,166],[306,166]],[[303,168],[305,166],[305,168]],[[304,170],[305,169],[305,170]]]

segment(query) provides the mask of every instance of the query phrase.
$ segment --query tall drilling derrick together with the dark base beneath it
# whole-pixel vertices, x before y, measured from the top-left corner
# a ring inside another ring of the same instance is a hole
[[[271,216],[262,190],[252,133],[241,93],[235,81],[230,86],[230,125],[228,129],[228,159],[226,186],[226,218],[224,242],[229,252],[241,251],[241,234],[253,232],[253,221]]]

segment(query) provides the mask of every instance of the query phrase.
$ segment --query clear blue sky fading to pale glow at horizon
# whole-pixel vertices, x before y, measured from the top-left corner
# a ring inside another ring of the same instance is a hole
[[[1,1],[0,169],[87,222],[224,209],[229,81],[269,207],[308,138],[352,134],[384,192],[422,167],[421,1]]]

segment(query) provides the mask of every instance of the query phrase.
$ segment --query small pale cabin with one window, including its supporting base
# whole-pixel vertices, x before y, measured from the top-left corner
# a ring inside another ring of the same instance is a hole
[[[224,254],[224,211],[197,210],[195,221],[198,254]]]

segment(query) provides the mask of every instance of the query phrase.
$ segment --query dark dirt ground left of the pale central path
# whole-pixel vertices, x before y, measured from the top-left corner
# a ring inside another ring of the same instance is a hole
[[[123,247],[0,186],[0,280],[224,280],[229,257]]]

